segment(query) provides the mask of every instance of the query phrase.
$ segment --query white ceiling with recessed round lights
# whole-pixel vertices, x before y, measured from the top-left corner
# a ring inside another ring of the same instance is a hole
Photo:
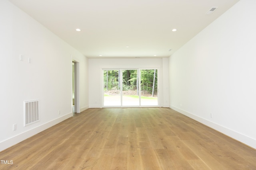
[[[169,57],[239,0],[9,1],[86,57],[148,58]]]

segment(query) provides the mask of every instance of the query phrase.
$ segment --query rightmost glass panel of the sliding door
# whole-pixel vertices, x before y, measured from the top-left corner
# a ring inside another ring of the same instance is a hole
[[[141,106],[158,106],[157,69],[140,70]]]

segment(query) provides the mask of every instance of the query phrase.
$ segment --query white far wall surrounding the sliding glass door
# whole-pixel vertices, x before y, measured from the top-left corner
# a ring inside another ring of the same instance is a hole
[[[168,59],[164,59],[164,61],[168,61]],[[167,73],[162,74],[163,70],[168,70],[168,64],[163,64],[163,59],[89,59],[89,107],[102,107],[102,68],[158,68],[158,76],[160,78],[158,82],[160,90],[160,94],[158,94],[159,103],[162,107],[164,99],[164,104],[168,105],[169,98],[168,93],[163,91],[166,89],[166,84],[163,85],[163,79],[168,81],[169,77],[166,76]]]

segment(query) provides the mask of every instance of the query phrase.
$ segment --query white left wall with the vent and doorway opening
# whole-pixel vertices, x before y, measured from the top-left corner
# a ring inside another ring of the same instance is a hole
[[[88,107],[88,59],[7,0],[0,1],[0,23],[3,150],[72,117],[72,60],[80,62],[80,107]],[[23,102],[36,99],[40,122],[24,127]]]

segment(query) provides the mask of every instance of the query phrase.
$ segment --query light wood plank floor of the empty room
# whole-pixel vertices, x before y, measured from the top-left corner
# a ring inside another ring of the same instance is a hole
[[[169,108],[87,109],[0,160],[17,170],[256,170],[256,150]]]

